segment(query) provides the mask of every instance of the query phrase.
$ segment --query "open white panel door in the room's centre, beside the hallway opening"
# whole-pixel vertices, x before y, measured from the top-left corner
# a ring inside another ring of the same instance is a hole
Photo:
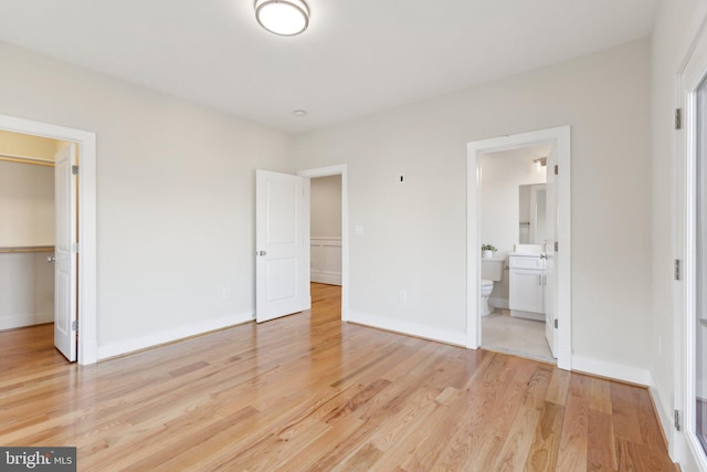
[[[256,170],[255,319],[308,310],[309,179]]]

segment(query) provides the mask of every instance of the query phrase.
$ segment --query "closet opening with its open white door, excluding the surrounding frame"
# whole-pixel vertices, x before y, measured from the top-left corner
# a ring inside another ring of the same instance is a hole
[[[54,323],[76,359],[76,146],[0,130],[0,328]]]

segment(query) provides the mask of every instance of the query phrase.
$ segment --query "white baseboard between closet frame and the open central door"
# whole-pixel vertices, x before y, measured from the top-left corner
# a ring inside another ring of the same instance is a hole
[[[167,329],[161,333],[155,333],[149,336],[135,337],[128,340],[122,340],[118,343],[107,344],[105,346],[98,346],[98,359],[106,359],[108,357],[133,353],[135,350],[158,346],[165,343],[171,343],[175,340],[183,339],[186,337],[208,333],[214,329],[221,329],[221,328],[238,325],[241,323],[252,322],[253,319],[254,319],[253,313],[230,315],[230,316],[224,316],[218,319],[211,319],[208,322],[194,323],[187,326],[180,326],[172,329]]]

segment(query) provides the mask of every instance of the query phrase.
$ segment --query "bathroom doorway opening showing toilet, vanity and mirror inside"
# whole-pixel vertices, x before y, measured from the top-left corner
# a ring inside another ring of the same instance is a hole
[[[490,256],[479,252],[482,347],[551,363],[546,274],[538,268],[545,264],[547,157],[552,150],[553,144],[546,143],[485,153],[478,160],[482,248],[494,248]],[[523,268],[515,268],[517,260]]]

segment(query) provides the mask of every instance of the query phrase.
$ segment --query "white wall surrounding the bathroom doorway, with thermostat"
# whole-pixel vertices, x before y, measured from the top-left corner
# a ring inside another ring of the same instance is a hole
[[[643,40],[297,136],[349,165],[351,319],[463,343],[466,144],[571,125],[573,363],[647,377],[650,73]]]

